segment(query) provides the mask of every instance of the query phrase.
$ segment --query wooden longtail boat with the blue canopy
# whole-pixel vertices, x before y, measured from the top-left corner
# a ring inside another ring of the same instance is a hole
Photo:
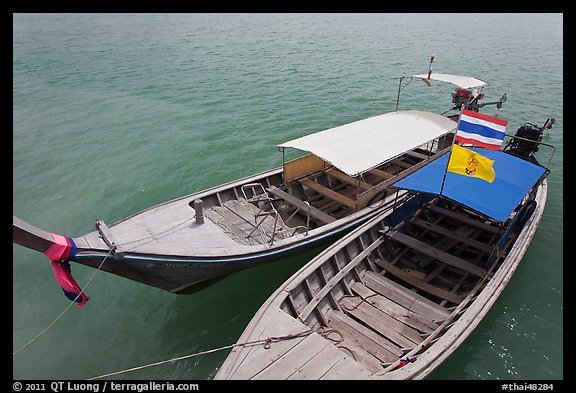
[[[552,124],[527,123],[503,150],[474,149],[494,160],[492,183],[446,172],[449,154],[395,181],[404,202],[282,284],[215,379],[426,377],[490,310],[530,245],[549,173],[534,152]]]

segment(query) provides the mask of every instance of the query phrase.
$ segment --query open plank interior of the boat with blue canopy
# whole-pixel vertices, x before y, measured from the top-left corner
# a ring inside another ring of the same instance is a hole
[[[281,305],[373,373],[438,330],[500,263],[491,258],[499,222],[438,197],[418,195],[402,208],[295,280]]]

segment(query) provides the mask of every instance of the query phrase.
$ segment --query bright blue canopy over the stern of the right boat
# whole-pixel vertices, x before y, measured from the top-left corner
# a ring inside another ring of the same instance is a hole
[[[492,167],[496,178],[488,183],[482,179],[447,172],[441,195],[501,222],[508,218],[547,171],[546,168],[500,150],[470,150],[494,160]],[[449,154],[444,154],[393,186],[440,195],[448,157]]]

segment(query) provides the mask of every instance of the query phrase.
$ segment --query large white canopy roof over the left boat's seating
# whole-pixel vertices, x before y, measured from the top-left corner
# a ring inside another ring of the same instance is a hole
[[[456,128],[432,112],[385,113],[282,143],[313,153],[342,172],[357,176]]]

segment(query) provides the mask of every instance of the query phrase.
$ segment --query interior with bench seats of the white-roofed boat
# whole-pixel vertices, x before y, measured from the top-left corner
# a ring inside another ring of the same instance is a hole
[[[389,179],[438,154],[451,138],[436,138],[358,177],[309,154],[257,182],[204,197],[205,215],[241,244],[272,245],[374,206],[394,192]]]

